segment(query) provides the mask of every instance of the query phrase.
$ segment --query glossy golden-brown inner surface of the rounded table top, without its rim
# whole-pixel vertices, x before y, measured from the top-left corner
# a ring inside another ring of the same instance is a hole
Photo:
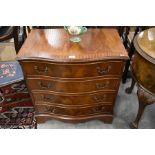
[[[155,28],[141,32],[137,37],[137,44],[142,50],[140,52],[144,52],[152,59],[155,59]]]

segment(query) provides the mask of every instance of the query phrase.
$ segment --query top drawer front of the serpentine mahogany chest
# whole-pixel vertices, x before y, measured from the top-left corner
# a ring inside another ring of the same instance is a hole
[[[60,64],[38,61],[23,61],[26,75],[44,75],[61,78],[83,78],[103,75],[121,75],[122,61],[100,63]]]

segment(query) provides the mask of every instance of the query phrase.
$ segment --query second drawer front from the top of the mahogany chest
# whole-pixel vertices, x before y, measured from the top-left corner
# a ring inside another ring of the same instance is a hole
[[[49,80],[47,78],[28,78],[30,90],[50,90],[55,92],[82,93],[98,90],[116,90],[118,78],[100,78],[85,81]]]

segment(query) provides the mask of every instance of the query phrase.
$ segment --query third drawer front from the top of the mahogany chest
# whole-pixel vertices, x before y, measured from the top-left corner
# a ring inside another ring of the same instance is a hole
[[[89,105],[96,103],[109,102],[112,104],[115,99],[115,93],[98,92],[93,94],[81,94],[81,95],[58,95],[52,93],[32,93],[35,102],[47,102],[56,103],[59,105]]]

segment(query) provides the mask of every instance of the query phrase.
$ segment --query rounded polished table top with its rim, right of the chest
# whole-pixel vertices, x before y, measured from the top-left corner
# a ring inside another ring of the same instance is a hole
[[[135,38],[135,47],[139,54],[155,63],[155,28],[147,29]]]

